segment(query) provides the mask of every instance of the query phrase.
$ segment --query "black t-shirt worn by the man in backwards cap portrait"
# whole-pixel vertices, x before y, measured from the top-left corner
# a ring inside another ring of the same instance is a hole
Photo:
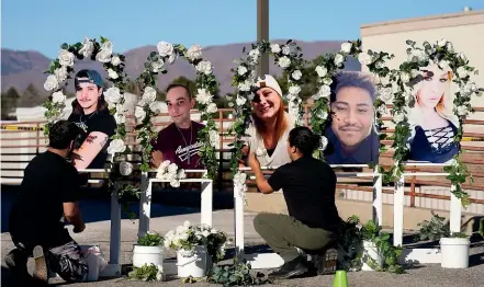
[[[69,122],[76,123],[78,127],[86,131],[85,137],[80,137],[76,142],[76,148],[80,148],[82,142],[85,142],[86,137],[92,131],[100,131],[108,135],[111,138],[116,129],[116,120],[114,116],[109,113],[108,110],[98,111],[92,114],[70,114]],[[104,145],[103,149],[98,153],[98,156],[89,164],[88,169],[104,169],[104,164],[108,159],[108,147],[111,139]]]

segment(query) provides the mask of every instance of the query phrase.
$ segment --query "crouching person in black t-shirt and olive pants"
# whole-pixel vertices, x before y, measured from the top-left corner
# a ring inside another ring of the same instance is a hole
[[[336,174],[325,162],[312,157],[319,137],[307,127],[289,134],[288,152],[292,162],[266,180],[254,153],[249,164],[259,190],[264,194],[282,188],[289,215],[262,213],[254,219],[256,231],[278,253],[284,264],[269,274],[270,279],[286,279],[308,272],[305,251],[324,250],[334,243],[340,218],[335,205]]]

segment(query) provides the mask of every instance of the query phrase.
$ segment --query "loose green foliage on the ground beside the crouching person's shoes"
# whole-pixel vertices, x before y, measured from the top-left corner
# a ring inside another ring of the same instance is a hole
[[[270,283],[264,274],[258,272],[250,274],[250,264],[234,259],[233,265],[214,266],[207,276],[209,283],[222,284],[223,286],[252,286]]]

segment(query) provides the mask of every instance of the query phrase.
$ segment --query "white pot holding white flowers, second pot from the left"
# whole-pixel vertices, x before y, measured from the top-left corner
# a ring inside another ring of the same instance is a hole
[[[205,245],[198,245],[193,251],[177,251],[178,277],[204,277],[212,267],[212,257]]]

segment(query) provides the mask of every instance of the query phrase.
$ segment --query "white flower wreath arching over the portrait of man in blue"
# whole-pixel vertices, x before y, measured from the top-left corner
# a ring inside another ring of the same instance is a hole
[[[392,71],[385,66],[385,61],[392,59],[394,56],[387,53],[376,53],[372,50],[363,51],[361,49],[361,41],[347,42],[341,44],[341,49],[336,54],[326,54],[320,57],[320,62],[316,66],[316,73],[318,76],[319,87],[314,99],[314,106],[312,108],[309,125],[313,131],[320,135],[320,147],[315,157],[324,160],[323,151],[328,145],[328,139],[324,136],[325,125],[329,116],[329,95],[331,90],[329,85],[333,83],[333,77],[339,69],[344,69],[344,62],[348,56],[357,58],[361,65],[375,74],[376,100],[374,107],[376,111],[376,124],[383,125],[381,116],[387,112],[386,104],[390,104],[393,99],[393,90],[391,82]],[[380,131],[379,131],[380,133]],[[379,135],[380,139],[384,139],[384,134]],[[384,145],[380,145],[380,151],[384,151]]]

